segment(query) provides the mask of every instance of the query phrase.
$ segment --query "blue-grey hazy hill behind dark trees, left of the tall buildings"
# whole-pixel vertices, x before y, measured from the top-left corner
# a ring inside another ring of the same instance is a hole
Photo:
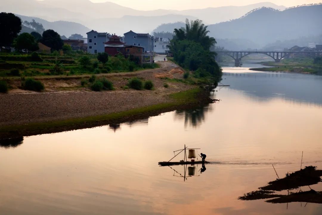
[[[18,14],[16,15],[19,16],[23,22],[24,21],[31,22],[34,19],[36,22],[43,24],[43,27],[45,30],[53,29],[58,34],[65,35],[67,37],[70,36],[71,34],[81,34],[83,36],[86,36],[86,33],[90,31],[88,27],[79,23],[66,22],[66,21],[48,22],[47,20],[40,19],[37,17],[23,16]],[[25,29],[24,32],[28,32],[27,30],[28,29]]]

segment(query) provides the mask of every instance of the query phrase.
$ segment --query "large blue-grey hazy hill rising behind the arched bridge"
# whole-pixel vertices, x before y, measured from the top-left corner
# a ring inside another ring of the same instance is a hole
[[[215,38],[243,38],[262,47],[276,40],[322,34],[321,20],[322,5],[284,11],[261,8],[231,22],[209,25],[208,30]]]

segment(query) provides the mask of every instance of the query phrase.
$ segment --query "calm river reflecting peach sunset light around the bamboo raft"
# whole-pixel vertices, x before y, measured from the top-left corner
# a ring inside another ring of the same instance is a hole
[[[322,169],[322,76],[223,69],[220,102],[2,143],[0,214],[321,214],[238,197],[276,180],[272,164],[279,177],[299,170],[302,151],[302,167]],[[185,180],[184,166],[158,166],[184,144],[212,162]]]

